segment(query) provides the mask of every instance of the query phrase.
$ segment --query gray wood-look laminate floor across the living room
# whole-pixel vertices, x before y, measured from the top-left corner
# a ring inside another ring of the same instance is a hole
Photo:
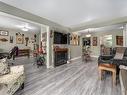
[[[25,88],[15,95],[121,95],[120,85],[112,86],[111,76],[98,79],[97,61],[75,61],[53,69],[37,68],[33,59],[17,59],[25,66]]]

